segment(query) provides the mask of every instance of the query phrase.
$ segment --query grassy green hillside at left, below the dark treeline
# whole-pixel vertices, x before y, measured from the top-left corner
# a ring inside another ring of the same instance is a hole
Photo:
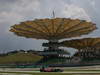
[[[7,56],[0,56],[0,64],[9,63],[33,63],[42,57],[33,53],[15,53]]]

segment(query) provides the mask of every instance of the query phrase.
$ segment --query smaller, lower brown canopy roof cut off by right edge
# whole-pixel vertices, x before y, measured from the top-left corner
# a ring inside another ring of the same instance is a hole
[[[100,38],[84,38],[84,39],[75,39],[61,42],[62,46],[72,47],[76,49],[84,48],[96,48],[100,46]]]

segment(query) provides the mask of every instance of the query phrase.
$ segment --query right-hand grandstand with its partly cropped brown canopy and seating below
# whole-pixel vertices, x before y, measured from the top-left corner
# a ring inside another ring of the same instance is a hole
[[[78,50],[73,60],[76,57],[78,61],[100,59],[100,38],[74,39],[63,41],[60,44],[63,47],[71,47]]]

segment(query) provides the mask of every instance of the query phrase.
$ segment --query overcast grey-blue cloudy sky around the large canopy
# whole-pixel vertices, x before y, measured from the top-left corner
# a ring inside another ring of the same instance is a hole
[[[9,29],[22,21],[51,18],[53,10],[56,17],[79,18],[96,23],[98,29],[85,37],[100,36],[100,0],[0,0],[0,52],[43,50],[43,40],[18,37]]]

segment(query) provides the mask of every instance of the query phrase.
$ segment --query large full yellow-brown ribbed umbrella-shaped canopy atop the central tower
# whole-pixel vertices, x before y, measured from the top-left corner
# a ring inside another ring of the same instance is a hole
[[[18,36],[26,38],[60,40],[88,34],[95,29],[95,24],[85,20],[69,18],[46,18],[15,24],[14,26],[11,26],[10,31],[14,32]]]

